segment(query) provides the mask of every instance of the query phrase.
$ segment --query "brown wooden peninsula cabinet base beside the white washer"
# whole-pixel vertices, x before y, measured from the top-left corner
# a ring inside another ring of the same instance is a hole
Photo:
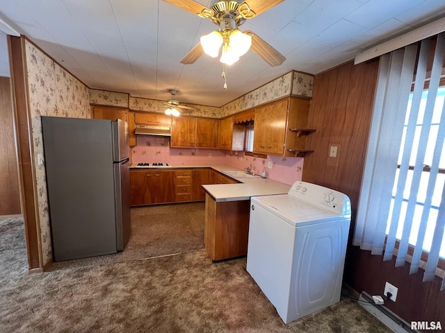
[[[216,202],[206,194],[204,244],[213,260],[248,253],[250,200]]]

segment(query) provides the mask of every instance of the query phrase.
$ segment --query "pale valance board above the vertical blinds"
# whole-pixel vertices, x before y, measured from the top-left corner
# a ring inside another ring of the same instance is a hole
[[[442,17],[442,19],[438,19],[435,22],[431,22],[430,24],[426,24],[425,26],[421,26],[420,28],[416,28],[409,33],[404,33],[387,42],[373,46],[371,49],[360,52],[355,56],[354,65],[382,56],[382,54],[400,49],[401,47],[412,43],[419,42],[419,40],[424,40],[425,38],[437,35],[443,31],[445,31],[445,17]]]

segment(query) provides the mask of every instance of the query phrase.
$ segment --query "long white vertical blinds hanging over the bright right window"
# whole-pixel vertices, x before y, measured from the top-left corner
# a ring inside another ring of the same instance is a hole
[[[439,275],[437,264],[444,240],[445,189],[443,185],[437,189],[445,139],[445,103],[438,105],[437,99],[444,53],[445,33],[442,33],[437,35],[435,43],[423,40],[380,57],[353,239],[354,245],[371,250],[374,255],[383,255],[384,260],[396,256],[396,266],[411,262],[410,273],[416,273],[421,266],[425,269],[423,281]],[[430,54],[434,58],[428,68]],[[437,136],[430,133],[433,118],[439,119],[435,123]],[[433,151],[432,159],[426,157],[427,151]],[[437,195],[438,191],[442,191],[442,196]],[[433,196],[442,198],[436,215],[431,214]],[[421,254],[427,227],[434,232],[425,263]],[[416,234],[415,244],[411,244],[414,252],[408,255],[412,234]]]

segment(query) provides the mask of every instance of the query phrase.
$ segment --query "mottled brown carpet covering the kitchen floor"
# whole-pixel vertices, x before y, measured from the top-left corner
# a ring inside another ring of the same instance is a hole
[[[245,258],[207,257],[201,203],[136,208],[132,217],[121,254],[32,275],[23,222],[0,220],[0,332],[391,332],[346,297],[284,325]]]

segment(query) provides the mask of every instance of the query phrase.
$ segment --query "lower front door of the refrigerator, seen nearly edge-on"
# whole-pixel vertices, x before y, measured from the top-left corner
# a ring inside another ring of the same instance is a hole
[[[131,233],[129,159],[114,163],[116,242],[118,251],[127,246]]]

